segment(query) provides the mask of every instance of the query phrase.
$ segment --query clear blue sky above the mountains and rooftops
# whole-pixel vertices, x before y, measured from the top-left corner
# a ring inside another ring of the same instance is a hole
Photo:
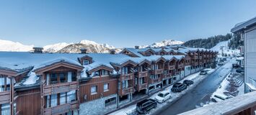
[[[25,45],[93,40],[115,47],[226,35],[255,0],[0,1],[0,39]]]

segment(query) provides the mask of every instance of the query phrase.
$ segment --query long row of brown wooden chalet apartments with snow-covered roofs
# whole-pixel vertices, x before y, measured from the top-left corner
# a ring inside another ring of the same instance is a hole
[[[217,53],[181,46],[118,54],[0,52],[0,111],[104,114],[209,67]]]

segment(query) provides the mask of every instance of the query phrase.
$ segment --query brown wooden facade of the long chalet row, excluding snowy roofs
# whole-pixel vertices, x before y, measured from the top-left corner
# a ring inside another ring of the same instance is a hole
[[[150,56],[172,55],[177,52],[146,50],[139,53]],[[136,57],[128,50],[123,51],[123,54]],[[188,52],[179,59],[172,57],[167,60],[159,57],[158,60],[144,60],[141,63],[128,60],[121,65],[112,65],[114,69],[100,65],[87,71],[87,78],[81,78],[84,60],[88,60],[89,64],[93,63],[92,57],[84,56],[78,60],[81,65],[59,62],[37,68],[35,73],[40,76],[40,83],[37,86],[17,89],[14,88],[14,80],[20,82],[27,73],[18,74],[12,70],[0,69],[0,78],[10,79],[9,90],[0,91],[0,106],[9,103],[11,114],[66,114],[70,111],[79,111],[81,103],[98,98],[112,95],[122,98],[140,91],[149,92],[149,86],[164,84],[164,80],[172,79],[184,71],[185,66],[209,65],[215,57],[215,52],[196,51]],[[118,71],[117,75],[113,75],[113,70]],[[93,76],[89,76],[92,74]],[[68,98],[70,93],[75,96],[72,101]],[[52,102],[53,98],[56,98],[56,101]]]

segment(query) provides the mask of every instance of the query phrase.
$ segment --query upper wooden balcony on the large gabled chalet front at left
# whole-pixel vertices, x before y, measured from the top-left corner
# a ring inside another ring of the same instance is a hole
[[[73,90],[77,90],[77,82],[69,82],[69,83],[58,83],[48,86],[43,86],[43,96],[48,96],[56,93],[69,92]]]

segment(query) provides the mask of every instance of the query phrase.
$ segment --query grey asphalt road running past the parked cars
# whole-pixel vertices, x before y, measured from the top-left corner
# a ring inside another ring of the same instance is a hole
[[[234,60],[230,60],[215,72],[208,75],[208,77],[199,83],[192,91],[187,92],[185,96],[182,96],[182,98],[162,111],[161,115],[181,114],[182,112],[202,106],[202,103],[207,103],[211,93],[219,88],[219,84],[224,80],[225,75],[231,71],[232,63],[234,63]]]

